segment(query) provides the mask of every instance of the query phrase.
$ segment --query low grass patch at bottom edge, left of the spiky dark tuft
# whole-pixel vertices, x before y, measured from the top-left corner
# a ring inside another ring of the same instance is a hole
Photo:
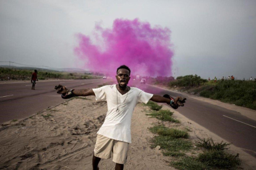
[[[197,158],[184,157],[179,161],[174,161],[171,166],[181,170],[206,170],[210,169],[206,164],[197,160]]]

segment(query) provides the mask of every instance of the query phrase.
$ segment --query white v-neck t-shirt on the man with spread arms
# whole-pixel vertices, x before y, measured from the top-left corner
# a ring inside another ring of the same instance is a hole
[[[130,91],[122,95],[115,84],[93,89],[93,92],[96,100],[106,100],[108,104],[105,121],[97,134],[132,143],[130,123],[134,108],[139,102],[147,103],[153,94],[130,87]]]

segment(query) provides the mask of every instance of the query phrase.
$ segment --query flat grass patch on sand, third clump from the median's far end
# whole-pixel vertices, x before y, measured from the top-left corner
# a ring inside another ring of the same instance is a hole
[[[189,138],[189,134],[186,131],[181,131],[179,129],[168,128],[164,126],[154,126],[149,128],[154,134],[159,134],[161,136],[169,136],[173,138]]]

